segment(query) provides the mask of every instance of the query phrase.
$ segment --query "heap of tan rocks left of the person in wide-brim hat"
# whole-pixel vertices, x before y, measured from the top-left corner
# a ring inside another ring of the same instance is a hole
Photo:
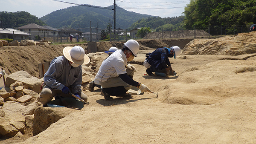
[[[41,84],[25,71],[6,78],[0,90],[0,137],[22,135],[26,128],[32,128],[34,111],[42,105],[38,100]]]

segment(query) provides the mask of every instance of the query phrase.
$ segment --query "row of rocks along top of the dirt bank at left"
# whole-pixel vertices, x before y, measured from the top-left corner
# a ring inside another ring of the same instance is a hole
[[[7,40],[0,40],[0,46],[35,46],[35,45],[49,45],[49,44],[52,44],[52,42],[47,40],[39,40],[39,41],[21,40],[20,42],[15,40],[10,43],[8,43]]]

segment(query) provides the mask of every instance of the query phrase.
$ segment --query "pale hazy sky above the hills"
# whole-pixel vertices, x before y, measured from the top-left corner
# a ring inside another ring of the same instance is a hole
[[[111,6],[114,0],[60,0],[76,4],[89,4],[93,6]],[[0,11],[25,11],[40,18],[59,9],[76,6],[53,0],[3,0]],[[190,0],[116,0],[119,7],[131,12],[150,14],[159,17],[175,17],[182,15],[184,7]]]

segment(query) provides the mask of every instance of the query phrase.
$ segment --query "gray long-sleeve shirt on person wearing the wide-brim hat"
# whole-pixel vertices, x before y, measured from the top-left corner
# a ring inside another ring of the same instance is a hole
[[[56,57],[44,74],[44,82],[52,89],[61,90],[64,86],[67,86],[73,94],[81,93],[81,66],[70,66],[69,61],[64,56]]]

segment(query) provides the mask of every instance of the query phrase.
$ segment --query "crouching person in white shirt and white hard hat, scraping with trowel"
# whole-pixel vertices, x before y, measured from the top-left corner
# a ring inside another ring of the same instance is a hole
[[[126,72],[125,66],[127,61],[137,57],[139,51],[139,43],[136,40],[128,40],[122,49],[116,50],[107,59],[102,62],[97,77],[99,84],[102,86],[102,94],[105,100],[111,101],[113,96],[131,98],[126,92],[131,86],[138,87],[142,92],[152,92],[144,84],[134,81]]]

